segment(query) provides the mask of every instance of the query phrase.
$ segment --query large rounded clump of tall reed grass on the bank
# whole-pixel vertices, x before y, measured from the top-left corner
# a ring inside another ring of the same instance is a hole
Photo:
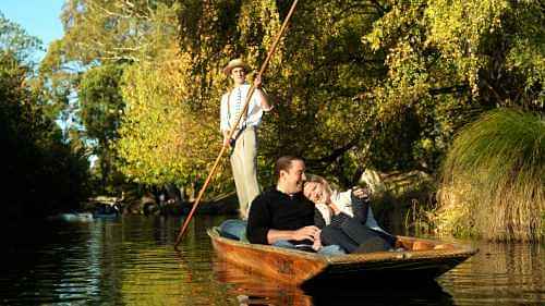
[[[439,233],[543,241],[545,121],[499,109],[462,128],[441,169]]]

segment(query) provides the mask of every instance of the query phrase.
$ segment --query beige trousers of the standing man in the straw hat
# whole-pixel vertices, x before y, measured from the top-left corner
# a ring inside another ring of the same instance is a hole
[[[231,155],[239,212],[243,220],[247,219],[250,204],[259,194],[257,183],[257,134],[255,127],[246,127],[237,138]]]

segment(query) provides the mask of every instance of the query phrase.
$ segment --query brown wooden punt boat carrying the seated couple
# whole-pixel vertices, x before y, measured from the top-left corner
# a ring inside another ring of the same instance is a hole
[[[432,281],[477,253],[457,243],[398,236],[402,252],[323,256],[270,245],[250,244],[207,231],[216,254],[251,272],[298,285],[330,282]]]

